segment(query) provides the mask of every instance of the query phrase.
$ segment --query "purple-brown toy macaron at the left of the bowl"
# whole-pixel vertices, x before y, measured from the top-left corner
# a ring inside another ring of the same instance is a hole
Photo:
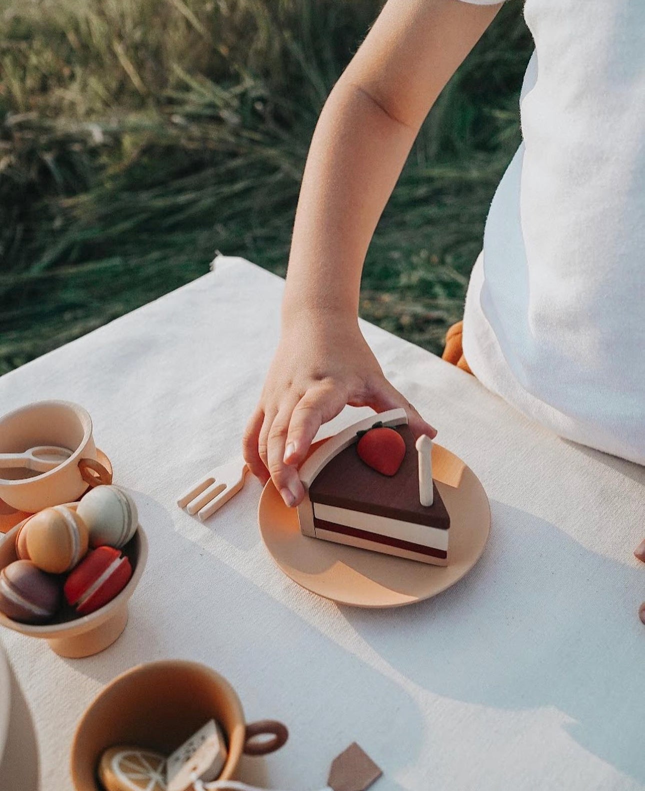
[[[29,560],[0,571],[0,611],[21,623],[44,623],[59,609],[60,585]]]

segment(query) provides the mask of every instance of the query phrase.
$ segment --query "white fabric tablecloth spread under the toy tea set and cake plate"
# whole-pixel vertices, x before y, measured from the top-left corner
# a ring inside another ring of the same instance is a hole
[[[0,379],[2,413],[47,398],[89,410],[150,539],[127,629],[104,653],[64,660],[2,630],[17,723],[2,791],[33,787],[36,745],[40,788],[70,788],[70,740],[90,699],[132,665],[170,657],[222,672],[249,721],[289,726],[283,750],[243,760],[247,782],[321,788],[357,740],[384,770],[382,791],[645,789],[645,566],[632,556],[645,468],[560,440],[363,324],[385,374],[488,492],[491,539],[472,573],[411,607],[338,607],[265,551],[255,479],[206,524],[176,507],[238,452],[282,291],[280,278],[220,257],[214,273]]]

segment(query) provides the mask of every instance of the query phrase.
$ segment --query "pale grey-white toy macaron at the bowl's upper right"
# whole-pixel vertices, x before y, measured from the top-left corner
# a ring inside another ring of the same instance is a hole
[[[118,486],[96,486],[78,503],[78,516],[89,529],[90,547],[123,547],[135,535],[135,501]]]

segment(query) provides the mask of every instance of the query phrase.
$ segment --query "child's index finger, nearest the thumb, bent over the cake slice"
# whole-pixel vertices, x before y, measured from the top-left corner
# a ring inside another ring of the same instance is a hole
[[[284,451],[285,464],[300,464],[307,455],[317,430],[323,423],[335,418],[346,403],[345,388],[321,385],[308,390],[291,415]]]

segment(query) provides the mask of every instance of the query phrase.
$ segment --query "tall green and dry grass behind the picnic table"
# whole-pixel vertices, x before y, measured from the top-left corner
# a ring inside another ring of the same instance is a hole
[[[207,271],[284,274],[309,139],[372,0],[0,0],[0,373]],[[427,119],[361,313],[461,318],[531,48],[510,2]]]

